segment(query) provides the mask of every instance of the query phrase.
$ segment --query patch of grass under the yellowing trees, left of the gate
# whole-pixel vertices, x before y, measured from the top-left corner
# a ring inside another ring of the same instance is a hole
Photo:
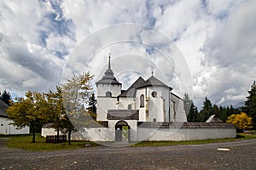
[[[73,150],[83,148],[85,144],[91,144],[91,146],[98,145],[90,141],[72,141],[71,144],[68,144],[68,142],[59,144],[46,143],[46,139],[41,137],[40,134],[36,135],[36,143],[32,143],[32,135],[14,135],[5,137],[10,138],[8,147],[32,151]]]

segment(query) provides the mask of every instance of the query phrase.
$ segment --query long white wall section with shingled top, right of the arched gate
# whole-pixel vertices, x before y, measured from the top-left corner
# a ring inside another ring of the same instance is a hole
[[[137,129],[138,141],[182,141],[236,138],[236,127],[230,123],[143,122],[142,124],[138,124]]]

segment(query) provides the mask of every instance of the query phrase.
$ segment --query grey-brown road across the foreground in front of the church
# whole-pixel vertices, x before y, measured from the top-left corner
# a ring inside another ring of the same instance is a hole
[[[0,142],[1,143],[1,142]],[[160,147],[24,151],[0,146],[0,169],[255,169],[256,139]],[[230,151],[217,150],[229,148]]]

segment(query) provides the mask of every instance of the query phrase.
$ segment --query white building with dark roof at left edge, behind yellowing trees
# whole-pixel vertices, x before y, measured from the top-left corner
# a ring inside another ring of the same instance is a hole
[[[14,125],[10,124],[13,123],[13,121],[8,118],[8,115],[5,112],[8,107],[9,105],[5,104],[0,99],[0,134],[28,134],[29,127],[18,129]]]

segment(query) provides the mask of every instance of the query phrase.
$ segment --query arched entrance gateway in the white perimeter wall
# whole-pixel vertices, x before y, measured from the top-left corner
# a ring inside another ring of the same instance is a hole
[[[125,121],[119,121],[115,124],[115,141],[129,142],[130,126]]]

